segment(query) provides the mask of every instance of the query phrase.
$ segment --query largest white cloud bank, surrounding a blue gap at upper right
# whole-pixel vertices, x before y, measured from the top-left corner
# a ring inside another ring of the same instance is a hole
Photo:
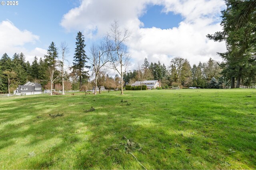
[[[183,21],[178,27],[160,29],[142,28],[139,17],[145,14],[148,5],[164,6],[162,12],[180,14]],[[109,30],[115,19],[122,27],[132,32],[126,42],[136,69],[147,57],[150,62],[168,65],[172,57],[184,57],[190,64],[208,61],[210,57],[218,61],[216,52],[226,50],[224,43],[216,43],[206,38],[208,33],[221,30],[220,11],[223,0],[82,0],[78,8],[73,8],[62,18],[61,25],[70,30],[83,31],[86,37],[101,37]]]

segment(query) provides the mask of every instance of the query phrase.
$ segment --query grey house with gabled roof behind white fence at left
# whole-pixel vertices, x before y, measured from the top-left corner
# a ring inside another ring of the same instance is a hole
[[[16,90],[13,91],[13,94],[41,94],[42,93],[42,86],[39,83],[32,83],[32,82],[27,82],[24,85],[19,85]]]

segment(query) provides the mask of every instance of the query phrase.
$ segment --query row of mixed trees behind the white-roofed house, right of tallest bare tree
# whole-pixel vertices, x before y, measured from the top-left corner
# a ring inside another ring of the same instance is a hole
[[[209,59],[206,63],[199,63],[197,66],[190,65],[187,59],[175,57],[170,61],[169,66],[165,64],[149,63],[145,58],[144,63],[138,66],[138,70],[126,72],[124,74],[125,84],[132,84],[135,81],[159,80],[162,87],[168,86],[194,86],[200,88],[210,88],[212,78],[218,79],[228,86],[228,82],[223,81],[222,69],[218,62]]]

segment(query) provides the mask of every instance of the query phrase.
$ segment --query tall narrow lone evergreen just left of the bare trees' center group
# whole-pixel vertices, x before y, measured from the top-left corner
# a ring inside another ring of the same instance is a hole
[[[86,66],[86,60],[89,58],[85,54],[85,46],[84,35],[79,31],[76,36],[76,49],[72,67],[79,76],[79,88],[82,87],[82,79],[88,79],[88,71],[84,71],[84,68],[90,68],[90,66]]]

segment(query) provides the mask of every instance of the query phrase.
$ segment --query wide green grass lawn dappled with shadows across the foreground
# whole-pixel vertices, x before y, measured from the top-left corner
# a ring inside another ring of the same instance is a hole
[[[256,169],[255,153],[255,89],[0,98],[2,169]]]

